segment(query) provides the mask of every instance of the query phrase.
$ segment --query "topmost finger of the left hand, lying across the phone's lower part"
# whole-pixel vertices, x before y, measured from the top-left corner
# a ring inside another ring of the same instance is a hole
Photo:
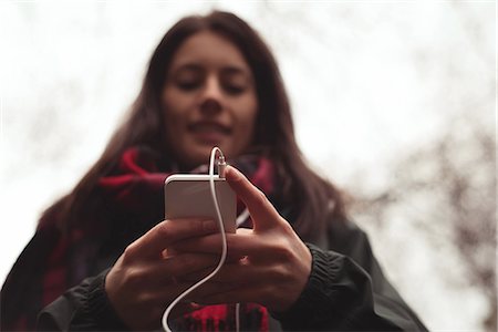
[[[214,220],[199,218],[165,220],[129,245],[125,250],[124,259],[162,258],[163,250],[172,243],[216,230]]]

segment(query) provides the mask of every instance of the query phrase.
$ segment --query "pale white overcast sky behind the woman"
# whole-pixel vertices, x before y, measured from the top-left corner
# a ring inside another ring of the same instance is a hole
[[[302,151],[340,186],[359,174],[382,186],[388,165],[437,137],[463,103],[488,97],[495,1],[0,2],[0,280],[43,209],[102,153],[163,33],[212,8],[270,44]],[[494,123],[490,111],[476,116]],[[437,287],[440,312],[411,298],[428,326],[476,330],[479,298],[464,308]]]

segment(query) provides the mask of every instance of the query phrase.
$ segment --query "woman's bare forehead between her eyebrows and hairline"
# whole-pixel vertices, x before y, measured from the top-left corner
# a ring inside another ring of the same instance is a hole
[[[210,31],[186,39],[173,56],[170,70],[191,64],[215,69],[231,66],[250,72],[240,50],[228,39]]]

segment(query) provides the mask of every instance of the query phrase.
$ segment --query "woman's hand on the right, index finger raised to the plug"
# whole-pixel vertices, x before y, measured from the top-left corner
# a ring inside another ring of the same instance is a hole
[[[311,253],[267,199],[240,172],[227,167],[226,179],[246,204],[253,229],[227,234],[228,259],[221,270],[203,288],[216,291],[224,283],[226,292],[209,292],[189,299],[200,304],[255,302],[282,312],[294,303],[304,289],[311,271]],[[221,236],[211,235],[186,240],[177,250],[220,253]],[[205,273],[204,273],[205,274]],[[201,276],[189,276],[197,280]],[[203,288],[199,290],[201,291]]]

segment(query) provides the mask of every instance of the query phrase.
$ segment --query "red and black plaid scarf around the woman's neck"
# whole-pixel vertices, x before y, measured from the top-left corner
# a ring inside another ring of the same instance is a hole
[[[274,191],[273,165],[266,158],[248,156],[231,163],[268,196]],[[126,151],[116,169],[98,181],[97,195],[104,217],[85,225],[72,227],[69,236],[62,236],[56,226],[58,211],[40,220],[33,239],[23,250],[1,293],[2,330],[34,330],[38,312],[65,290],[92,276],[92,263],[98,259],[110,234],[117,234],[117,248],[124,247],[143,235],[164,217],[163,186],[170,173],[159,155],[148,148]],[[194,173],[206,173],[206,167]],[[238,211],[243,205],[238,203]],[[105,217],[114,221],[105,220]],[[124,229],[124,230],[123,230]],[[116,232],[116,230],[118,232]],[[111,243],[115,243],[111,241]],[[115,248],[114,248],[115,249]],[[121,250],[120,249],[120,250]],[[105,251],[105,250],[104,250]],[[180,330],[232,331],[232,305],[208,305],[186,314],[177,321]],[[243,329],[268,330],[268,312],[258,304],[241,305]]]

